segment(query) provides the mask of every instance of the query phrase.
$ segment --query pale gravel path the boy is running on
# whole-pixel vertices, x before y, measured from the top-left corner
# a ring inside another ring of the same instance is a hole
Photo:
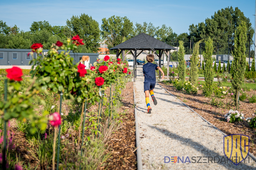
[[[147,114],[142,69],[137,68],[135,97],[140,133],[143,169],[256,169],[256,163],[238,166],[229,163],[164,163],[164,157],[224,156],[223,135],[179,100],[155,86],[155,106],[150,99],[152,114]],[[150,97],[151,98],[151,97]],[[196,158],[198,161],[199,158]],[[204,158],[206,159],[206,158]],[[200,162],[205,162],[202,161]],[[168,161],[168,159],[167,159]],[[248,162],[248,158],[246,159]]]

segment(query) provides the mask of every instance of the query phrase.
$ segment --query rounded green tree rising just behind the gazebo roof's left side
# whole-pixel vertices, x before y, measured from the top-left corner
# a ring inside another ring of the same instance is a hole
[[[113,15],[102,19],[101,35],[106,40],[108,49],[122,43],[124,39],[130,39],[132,33],[133,23],[127,17]]]

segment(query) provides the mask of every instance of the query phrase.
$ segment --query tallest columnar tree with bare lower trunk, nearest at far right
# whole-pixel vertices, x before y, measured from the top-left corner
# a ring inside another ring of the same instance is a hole
[[[244,82],[244,72],[246,66],[246,36],[247,26],[244,21],[238,26],[237,30],[235,30],[235,45],[234,45],[234,61],[232,62],[233,65],[233,81],[231,81],[232,86],[235,90],[235,103],[236,103],[236,110],[239,109],[239,91],[241,90],[242,84]]]

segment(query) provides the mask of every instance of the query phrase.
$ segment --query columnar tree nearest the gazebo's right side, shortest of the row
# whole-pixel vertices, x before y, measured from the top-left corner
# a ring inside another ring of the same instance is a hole
[[[179,41],[179,51],[178,51],[178,62],[177,72],[179,74],[179,79],[184,81],[186,77],[186,64],[184,60],[185,48],[183,46],[183,41]]]

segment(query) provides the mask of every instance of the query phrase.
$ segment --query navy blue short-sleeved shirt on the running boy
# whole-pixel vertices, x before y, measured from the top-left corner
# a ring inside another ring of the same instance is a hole
[[[155,83],[155,70],[157,70],[157,67],[158,65],[149,62],[143,65],[144,83]]]

